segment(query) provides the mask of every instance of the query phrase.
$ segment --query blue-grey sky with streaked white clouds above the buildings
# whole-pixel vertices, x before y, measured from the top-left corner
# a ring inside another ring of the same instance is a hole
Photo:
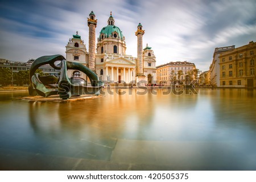
[[[61,54],[79,32],[88,50],[87,18],[98,19],[96,37],[108,25],[110,11],[125,36],[126,54],[137,57],[139,23],[156,65],[195,63],[209,70],[214,48],[256,41],[255,0],[0,0],[0,58],[28,61]]]

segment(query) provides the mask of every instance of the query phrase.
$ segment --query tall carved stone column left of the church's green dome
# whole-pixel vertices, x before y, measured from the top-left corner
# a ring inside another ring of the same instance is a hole
[[[88,27],[89,27],[89,60],[88,65],[89,69],[96,73],[96,33],[95,29],[97,27],[97,19],[94,12],[90,12],[88,18]]]

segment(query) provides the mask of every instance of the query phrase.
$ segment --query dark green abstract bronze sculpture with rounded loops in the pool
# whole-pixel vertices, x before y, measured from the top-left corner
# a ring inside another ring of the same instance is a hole
[[[60,62],[57,64],[57,62]],[[60,70],[60,77],[54,75],[42,76],[35,71],[42,65],[49,64],[56,70]],[[90,80],[90,86],[79,77],[68,77],[68,70],[79,70],[86,74]],[[42,56],[37,58],[30,66],[30,86],[28,91],[30,95],[41,95],[48,97],[59,95],[61,99],[69,99],[77,95],[99,95],[104,83],[98,80],[97,75],[88,67],[77,63],[66,61],[59,54],[52,56]]]

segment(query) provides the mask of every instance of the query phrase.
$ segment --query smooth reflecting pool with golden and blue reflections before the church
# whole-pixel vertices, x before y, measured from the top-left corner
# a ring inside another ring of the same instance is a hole
[[[0,93],[0,168],[256,170],[256,90],[196,92],[105,88],[67,102]]]

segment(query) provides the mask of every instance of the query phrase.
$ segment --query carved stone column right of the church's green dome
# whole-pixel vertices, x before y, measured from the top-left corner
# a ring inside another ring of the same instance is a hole
[[[137,77],[138,81],[144,81],[145,75],[143,74],[143,35],[144,30],[142,24],[139,23],[135,35],[137,36]]]

